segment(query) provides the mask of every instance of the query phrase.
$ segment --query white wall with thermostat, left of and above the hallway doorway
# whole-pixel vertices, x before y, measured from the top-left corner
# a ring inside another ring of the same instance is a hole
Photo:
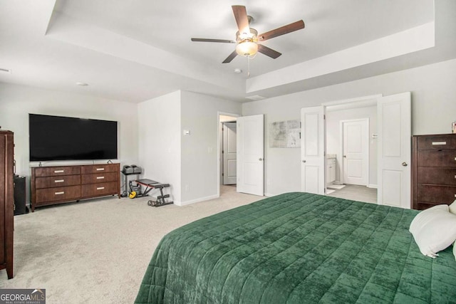
[[[218,196],[219,112],[241,113],[241,104],[182,91],[182,204]],[[190,130],[184,135],[183,130]]]

